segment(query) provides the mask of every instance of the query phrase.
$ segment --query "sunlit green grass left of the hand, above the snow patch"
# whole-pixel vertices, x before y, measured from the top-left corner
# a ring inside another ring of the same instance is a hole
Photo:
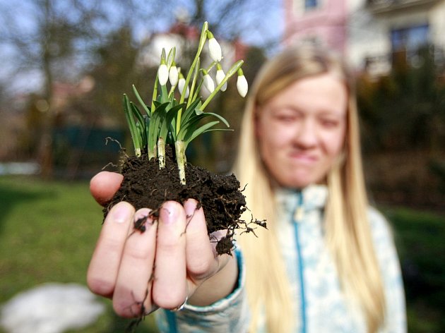
[[[87,182],[2,176],[0,211],[0,304],[45,282],[86,284],[102,221]],[[106,314],[81,332],[124,332],[129,320],[114,315],[111,301],[101,301],[107,305]],[[157,332],[153,318],[137,332]]]

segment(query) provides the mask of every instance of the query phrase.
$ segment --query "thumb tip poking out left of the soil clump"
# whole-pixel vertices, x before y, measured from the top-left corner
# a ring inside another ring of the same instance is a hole
[[[91,178],[90,192],[100,205],[105,205],[119,190],[124,176],[116,172],[102,171]]]

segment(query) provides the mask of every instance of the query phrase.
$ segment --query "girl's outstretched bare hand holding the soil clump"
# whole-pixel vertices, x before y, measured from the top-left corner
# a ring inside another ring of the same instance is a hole
[[[95,200],[101,205],[111,200],[122,179],[107,171],[93,177],[90,191]],[[148,208],[135,211],[128,202],[114,205],[88,268],[91,291],[112,298],[122,317],[139,317],[158,307],[177,309],[184,301],[209,305],[227,296],[237,280],[236,259],[216,255],[203,209],[197,207],[195,200],[184,205],[164,202],[154,221]],[[134,229],[136,221],[143,221],[144,232]]]

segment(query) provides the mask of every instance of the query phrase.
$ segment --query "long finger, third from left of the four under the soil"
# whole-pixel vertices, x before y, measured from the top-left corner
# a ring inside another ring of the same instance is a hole
[[[178,202],[165,202],[159,215],[153,301],[160,308],[177,308],[187,297],[186,214]]]

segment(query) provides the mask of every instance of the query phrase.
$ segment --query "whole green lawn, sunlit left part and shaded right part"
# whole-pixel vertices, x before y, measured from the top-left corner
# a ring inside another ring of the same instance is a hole
[[[102,212],[87,182],[0,177],[0,304],[48,281],[85,284]],[[410,332],[445,332],[445,214],[381,207],[401,256]],[[124,332],[110,301],[86,333]],[[1,330],[0,330],[1,332]],[[148,317],[137,332],[157,332]],[[4,333],[4,332],[1,332]]]

